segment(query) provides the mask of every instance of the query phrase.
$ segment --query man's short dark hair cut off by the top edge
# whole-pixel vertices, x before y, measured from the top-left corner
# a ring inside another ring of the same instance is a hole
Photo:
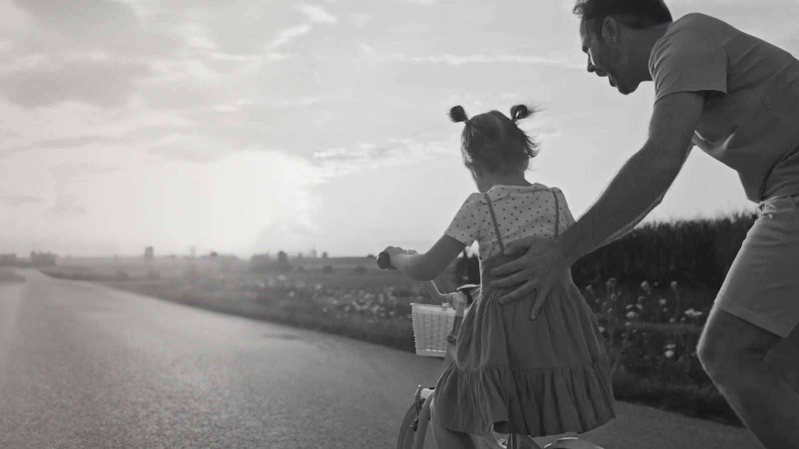
[[[573,12],[596,26],[601,26],[608,16],[632,28],[672,22],[671,12],[663,0],[577,0]]]

